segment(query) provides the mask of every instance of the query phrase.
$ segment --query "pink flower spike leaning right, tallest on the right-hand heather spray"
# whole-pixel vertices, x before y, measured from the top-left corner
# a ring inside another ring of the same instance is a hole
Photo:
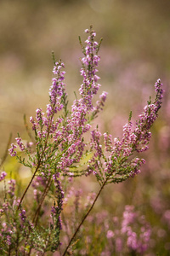
[[[148,143],[150,142],[151,132],[150,127],[153,125],[157,117],[157,112],[161,107],[161,98],[163,90],[161,89],[161,80],[158,79],[156,88],[156,100],[155,102],[144,107],[144,112],[139,115],[139,121],[136,122],[134,130],[133,124],[129,121],[123,127],[122,140],[115,140],[115,151],[117,156],[129,156],[134,150],[137,152],[143,152],[148,149]],[[140,148],[139,146],[142,145]]]

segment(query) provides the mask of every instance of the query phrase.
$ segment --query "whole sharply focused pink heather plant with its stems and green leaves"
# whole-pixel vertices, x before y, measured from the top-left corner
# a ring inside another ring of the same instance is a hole
[[[99,100],[94,103],[94,96],[100,87],[97,67],[100,60],[98,53],[101,41],[99,43],[95,41],[96,34],[92,26],[85,32],[88,33],[85,46],[82,45],[80,38],[84,56],[81,58],[82,84],[79,98],[76,98],[69,110],[64,83],[65,65],[62,61],[54,61],[54,79],[49,89],[46,112],[43,113],[41,108],[37,108],[36,118],[30,118],[34,139],[32,140],[31,136],[31,142],[25,144],[18,136],[16,145],[13,143],[8,150],[9,154],[15,156],[21,164],[31,168],[32,177],[20,199],[14,196],[14,181],[10,182],[8,197],[14,198],[14,205],[9,207],[5,199],[1,218],[5,219],[4,214],[8,216],[10,211],[13,212],[15,226],[11,223],[9,230],[14,227],[17,236],[14,232],[5,233],[8,234],[8,239],[5,240],[8,241],[5,249],[7,252],[15,250],[16,253],[31,255],[31,250],[34,249],[43,255],[45,252],[58,250],[62,229],[60,214],[63,211],[65,197],[62,179],[88,176],[93,173],[100,185],[99,193],[81,223],[77,225],[75,233],[65,248],[63,253],[65,255],[105,185],[121,183],[128,177],[134,177],[140,172],[139,168],[144,163],[137,154],[144,152],[150,142],[150,127],[161,108],[163,93],[161,80],[158,79],[155,84],[156,100],[148,102],[135,125],[131,122],[132,114],[130,114],[127,124],[123,127],[122,139],[115,138],[112,142],[111,134],[105,132],[102,135],[98,127],[92,129],[93,119],[103,109],[107,93],[104,91],[99,96]],[[87,132],[90,134],[89,142],[84,137]],[[100,144],[103,138],[104,146]],[[26,154],[25,158],[22,158],[19,150]],[[1,180],[5,175],[4,172],[1,173]],[[36,208],[32,210],[31,219],[29,219],[22,206],[31,186],[34,188]],[[42,206],[46,198],[51,200],[52,195],[55,201],[51,207],[49,224],[42,228]],[[25,230],[19,232],[23,226]]]

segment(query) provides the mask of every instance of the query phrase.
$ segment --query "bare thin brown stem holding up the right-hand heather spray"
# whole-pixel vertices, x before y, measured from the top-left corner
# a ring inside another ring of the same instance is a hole
[[[77,236],[77,232],[80,230],[83,222],[85,221],[85,219],[88,217],[88,214],[92,211],[92,209],[94,208],[94,204],[97,201],[101,191],[104,189],[105,184],[107,183],[108,177],[105,179],[105,182],[102,184],[101,188],[99,189],[98,195],[96,195],[94,202],[92,204],[92,206],[89,208],[88,212],[86,213],[86,215],[82,218],[81,223],[78,225],[77,230],[75,231],[74,235],[71,237],[71,240],[69,241],[69,244],[67,245],[67,247],[65,248],[65,252],[63,253],[62,256],[65,256],[65,254],[67,253],[68,248],[71,246],[71,242],[74,240],[75,236]]]

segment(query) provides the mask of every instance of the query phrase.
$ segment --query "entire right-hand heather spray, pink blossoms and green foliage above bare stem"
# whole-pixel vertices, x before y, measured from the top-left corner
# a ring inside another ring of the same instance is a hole
[[[139,168],[145,163],[144,159],[139,159],[134,153],[144,152],[148,149],[151,132],[150,127],[157,117],[157,112],[161,108],[161,80],[158,79],[156,88],[156,100],[144,107],[144,112],[139,115],[139,120],[133,127],[131,115],[128,123],[123,126],[122,139],[115,138],[112,142],[111,134],[104,133],[105,152],[102,149],[100,139],[102,134],[96,130],[92,131],[91,149],[94,148],[94,157],[88,160],[88,173],[94,171],[99,183],[119,183],[128,177],[134,177],[140,172]],[[132,155],[134,158],[132,159]],[[131,157],[131,158],[130,158]],[[103,178],[105,175],[105,179]]]

